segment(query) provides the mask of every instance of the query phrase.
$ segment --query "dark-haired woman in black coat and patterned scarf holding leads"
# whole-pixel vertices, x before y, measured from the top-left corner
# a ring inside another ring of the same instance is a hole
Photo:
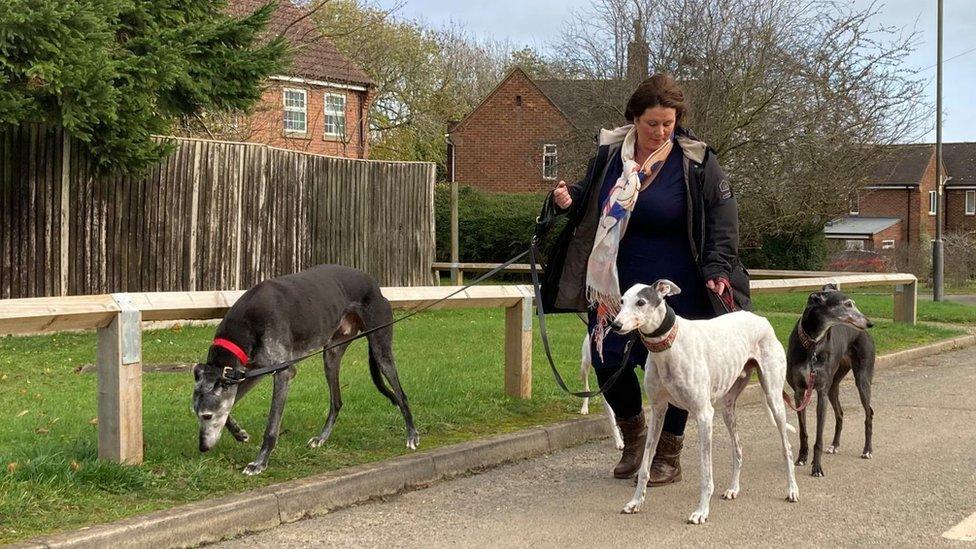
[[[750,308],[749,280],[738,258],[738,207],[705,143],[681,126],[684,94],[666,75],[645,80],[627,102],[631,125],[603,130],[597,155],[576,185],[560,181],[556,210],[569,222],[550,253],[543,283],[548,311],[589,311],[591,355],[601,386],[621,366],[627,338],[606,333],[622,291],[657,279],[682,292],[669,298],[689,319]],[[634,346],[624,372],[604,395],[624,439],[617,478],[632,477],[647,427],[641,383],[647,350]],[[668,407],[648,485],[681,480],[688,413]]]

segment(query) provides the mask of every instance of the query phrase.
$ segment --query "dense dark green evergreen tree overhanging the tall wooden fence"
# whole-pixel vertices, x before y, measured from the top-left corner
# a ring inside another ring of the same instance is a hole
[[[97,165],[157,162],[178,119],[247,110],[287,45],[262,40],[274,4],[225,0],[0,0],[0,123],[59,124]]]

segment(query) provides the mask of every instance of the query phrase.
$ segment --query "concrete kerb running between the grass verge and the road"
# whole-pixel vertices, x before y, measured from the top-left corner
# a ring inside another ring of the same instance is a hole
[[[877,366],[901,366],[930,355],[976,345],[965,335],[888,355]],[[762,401],[758,384],[739,397],[741,405]],[[602,413],[405,455],[378,463],[199,501],[64,534],[29,540],[15,547],[187,547],[274,528],[372,498],[423,487],[503,463],[537,457],[610,435]]]

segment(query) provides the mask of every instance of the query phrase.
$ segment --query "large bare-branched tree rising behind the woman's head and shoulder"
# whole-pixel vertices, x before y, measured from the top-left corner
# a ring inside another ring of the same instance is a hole
[[[595,0],[553,45],[578,78],[621,89],[627,44],[684,84],[687,122],[719,154],[739,196],[743,241],[799,228],[816,234],[845,213],[882,145],[927,127],[921,82],[902,61],[914,33],[872,23],[876,7],[835,0]],[[634,22],[643,24],[635,27]],[[635,37],[635,28],[642,37]],[[622,116],[607,125],[622,124]]]

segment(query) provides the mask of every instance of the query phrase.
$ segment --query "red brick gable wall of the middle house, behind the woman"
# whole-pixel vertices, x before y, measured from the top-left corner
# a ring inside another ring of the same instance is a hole
[[[492,192],[551,188],[568,174],[560,169],[556,181],[542,178],[543,145],[562,153],[569,130],[562,113],[515,70],[451,133],[455,180]]]

